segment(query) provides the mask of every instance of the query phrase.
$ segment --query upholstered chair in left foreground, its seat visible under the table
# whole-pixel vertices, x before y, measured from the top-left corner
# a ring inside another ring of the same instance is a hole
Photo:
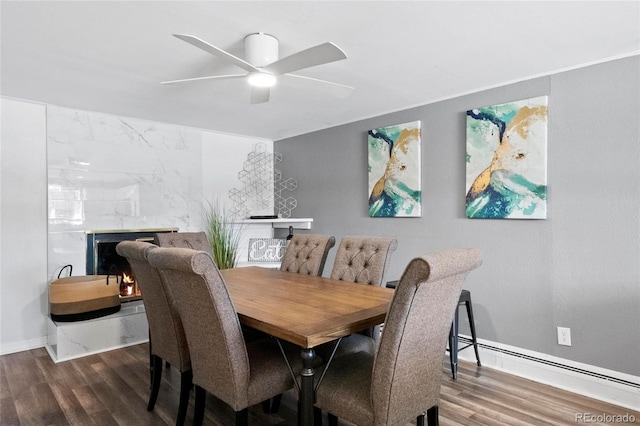
[[[207,392],[248,423],[248,407],[293,388],[289,367],[273,338],[245,342],[224,279],[211,256],[185,248],[157,248],[149,263],[176,301],[196,388],[194,424],[202,424]],[[292,370],[301,370],[295,355]]]

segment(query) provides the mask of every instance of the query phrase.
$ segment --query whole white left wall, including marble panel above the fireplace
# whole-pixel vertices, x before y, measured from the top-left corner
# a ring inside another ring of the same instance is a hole
[[[203,201],[241,187],[257,143],[273,150],[266,140],[0,102],[0,354],[44,346],[48,282],[67,263],[84,274],[85,229],[204,230]],[[50,185],[68,191],[48,205]]]

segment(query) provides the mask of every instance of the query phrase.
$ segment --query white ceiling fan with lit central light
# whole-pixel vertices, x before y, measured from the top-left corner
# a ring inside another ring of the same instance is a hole
[[[346,97],[353,91],[353,87],[344,84],[291,74],[294,71],[304,68],[346,59],[347,55],[333,43],[327,42],[319,44],[285,58],[278,59],[278,39],[270,34],[253,33],[244,38],[246,59],[240,59],[198,37],[186,34],[174,34],[174,37],[236,65],[245,70],[246,73],[186,78],[182,80],[164,81],[161,84],[186,83],[202,80],[246,79],[251,86],[252,104],[268,102],[271,87],[273,87],[280,78],[295,79],[305,85],[320,86],[324,92],[337,97]]]

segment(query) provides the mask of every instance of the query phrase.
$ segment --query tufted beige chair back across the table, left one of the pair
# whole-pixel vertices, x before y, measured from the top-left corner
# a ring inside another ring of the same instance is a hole
[[[327,253],[335,244],[333,235],[295,234],[284,252],[280,270],[320,276]]]

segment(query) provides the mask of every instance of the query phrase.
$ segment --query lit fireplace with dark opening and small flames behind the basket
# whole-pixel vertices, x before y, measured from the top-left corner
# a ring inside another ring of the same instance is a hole
[[[118,276],[120,301],[130,302],[142,298],[129,262],[116,252],[120,241],[146,241],[153,243],[156,233],[177,232],[178,228],[86,231],[87,275]]]

